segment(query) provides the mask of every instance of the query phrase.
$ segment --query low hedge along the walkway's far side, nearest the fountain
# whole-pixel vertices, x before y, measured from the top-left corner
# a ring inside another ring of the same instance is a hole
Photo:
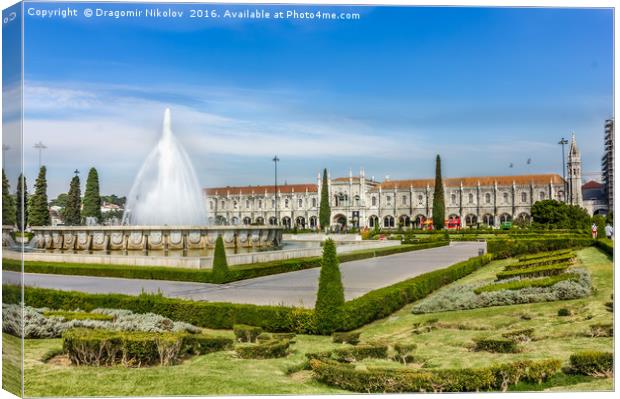
[[[394,255],[422,249],[448,245],[448,241],[433,241],[419,244],[400,245],[388,248],[361,250],[338,255],[340,262]],[[224,284],[250,278],[287,273],[320,267],[321,258],[300,258],[265,263],[253,263],[230,267],[225,276],[217,276],[210,269],[187,269],[157,266],[99,265],[60,262],[24,262],[25,273],[61,274],[74,276],[119,277],[144,280],[190,281],[198,283]],[[21,261],[2,259],[2,270],[21,272]]]

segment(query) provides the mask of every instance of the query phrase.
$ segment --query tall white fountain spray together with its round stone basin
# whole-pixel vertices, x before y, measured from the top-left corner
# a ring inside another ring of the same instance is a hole
[[[196,172],[172,132],[166,109],[162,135],[136,175],[121,226],[43,226],[32,227],[32,231],[40,249],[93,254],[204,254],[220,235],[226,246],[235,248],[269,247],[282,240],[282,229],[277,226],[207,226],[206,222]],[[144,264],[153,262],[151,258]]]

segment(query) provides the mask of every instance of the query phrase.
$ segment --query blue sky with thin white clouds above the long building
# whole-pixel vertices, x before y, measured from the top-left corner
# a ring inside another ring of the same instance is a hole
[[[584,170],[600,171],[610,10],[310,7],[361,18],[249,21],[85,18],[66,4],[80,17],[25,17],[26,171],[42,140],[52,196],[90,166],[103,192],[126,194],[166,106],[204,186],[271,184],[274,153],[288,182],[323,167],[431,177],[437,153],[452,177],[561,173],[572,131]]]

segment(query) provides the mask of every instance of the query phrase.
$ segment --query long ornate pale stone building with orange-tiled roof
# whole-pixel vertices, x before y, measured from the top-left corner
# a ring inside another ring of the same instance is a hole
[[[331,223],[355,227],[421,227],[432,217],[434,179],[367,179],[328,175]],[[210,223],[266,224],[279,220],[285,227],[315,228],[318,224],[321,175],[316,183],[205,189]],[[457,217],[463,227],[529,219],[539,200],[565,201],[566,183],[557,174],[456,177],[444,179],[447,218]],[[277,210],[277,219],[276,219]]]

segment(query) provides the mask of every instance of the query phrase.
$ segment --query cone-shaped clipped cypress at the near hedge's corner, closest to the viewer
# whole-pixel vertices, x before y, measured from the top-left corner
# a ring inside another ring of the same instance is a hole
[[[328,239],[323,245],[319,290],[314,306],[317,328],[321,334],[331,334],[338,329],[344,315],[344,287],[338,264],[336,244]]]

